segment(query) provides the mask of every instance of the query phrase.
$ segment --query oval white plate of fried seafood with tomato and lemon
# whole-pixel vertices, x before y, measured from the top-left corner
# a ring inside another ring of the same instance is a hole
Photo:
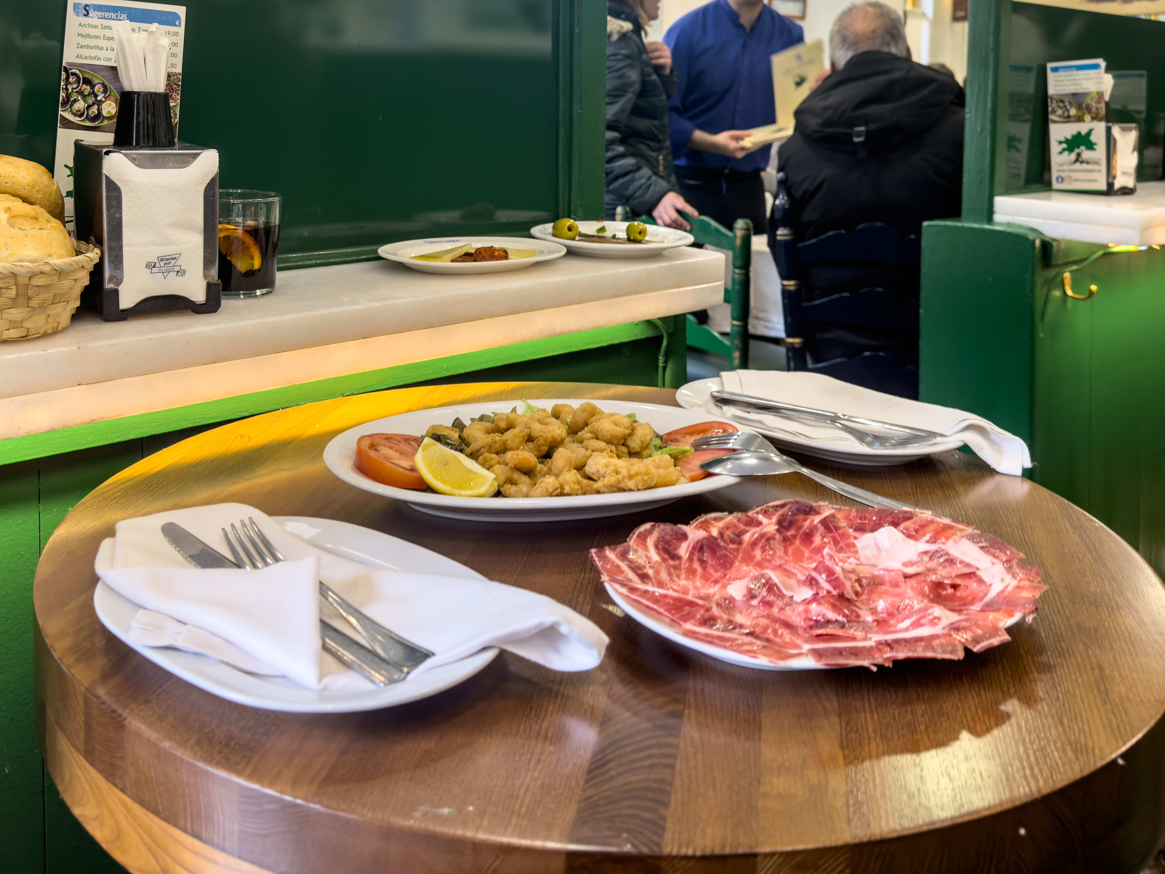
[[[739,482],[692,450],[737,430],[679,407],[579,399],[487,401],[350,428],[324,450],[345,482],[452,519],[549,522],[637,513]]]

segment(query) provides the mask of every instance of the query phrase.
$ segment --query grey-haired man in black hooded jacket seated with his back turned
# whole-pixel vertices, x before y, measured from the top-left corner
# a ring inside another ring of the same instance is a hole
[[[873,1],[842,10],[829,62],[778,156],[797,239],[867,221],[917,234],[924,221],[958,216],[963,92],[910,59],[902,13]]]

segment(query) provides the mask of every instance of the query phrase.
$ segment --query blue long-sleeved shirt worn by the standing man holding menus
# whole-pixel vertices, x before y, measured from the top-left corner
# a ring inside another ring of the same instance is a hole
[[[747,131],[777,120],[769,58],[804,42],[795,24],[769,6],[746,30],[728,0],[693,9],[668,28],[663,41],[679,85],[669,104],[671,151],[677,164],[718,170],[763,170],[771,147],[742,158],[687,148],[692,132]]]

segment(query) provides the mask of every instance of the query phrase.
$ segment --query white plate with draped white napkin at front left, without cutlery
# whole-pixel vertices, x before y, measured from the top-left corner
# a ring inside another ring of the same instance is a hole
[[[220,528],[248,516],[287,562],[257,571],[200,570],[161,533],[163,522],[176,522],[226,554]],[[588,670],[607,646],[594,623],[550,598],[347,522],[273,519],[226,503],[126,520],[115,530],[96,562],[101,580],[93,606],[105,627],[188,683],[252,707],[376,710],[461,683],[499,648],[555,670]],[[318,579],[436,655],[383,688],[345,669],[320,649],[320,615],[350,628],[319,598]]]

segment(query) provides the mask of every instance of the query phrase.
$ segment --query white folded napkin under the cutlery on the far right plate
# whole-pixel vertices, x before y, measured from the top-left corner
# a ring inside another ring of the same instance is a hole
[[[972,451],[1000,473],[1021,475],[1031,467],[1028,444],[986,418],[951,407],[922,403],[905,397],[874,392],[819,373],[783,373],[781,371],[730,371],[720,374],[726,392],[764,397],[771,401],[814,407],[831,413],[876,418],[898,425],[937,431],[966,443]],[[711,397],[705,409],[746,424],[784,431],[814,443],[853,446],[866,450],[840,428],[803,418],[764,415],[718,404]]]

